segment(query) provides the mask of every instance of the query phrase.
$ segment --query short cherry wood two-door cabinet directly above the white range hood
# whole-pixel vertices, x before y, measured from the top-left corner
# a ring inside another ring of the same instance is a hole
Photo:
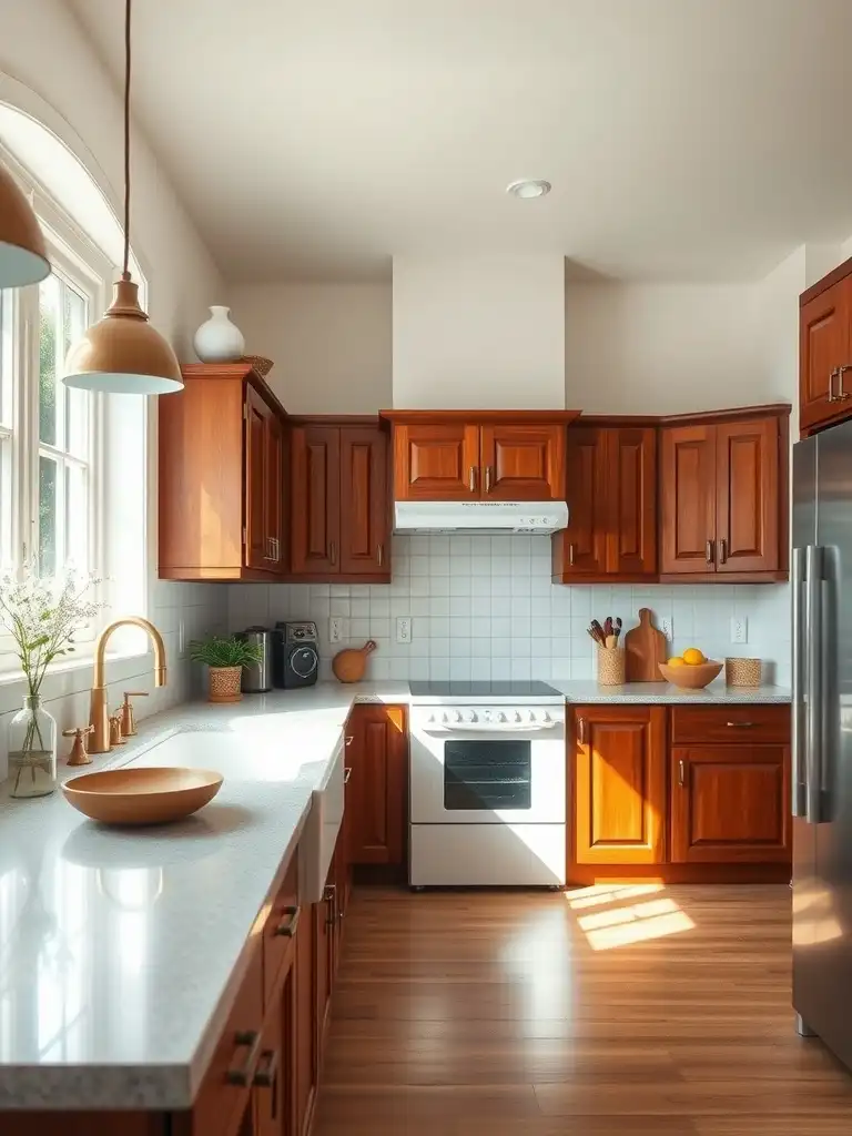
[[[563,501],[575,410],[383,410],[396,501]]]

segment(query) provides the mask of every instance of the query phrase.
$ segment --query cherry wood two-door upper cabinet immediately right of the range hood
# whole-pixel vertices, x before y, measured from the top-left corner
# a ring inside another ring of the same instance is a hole
[[[553,536],[556,583],[657,575],[657,429],[571,426],[568,528]]]

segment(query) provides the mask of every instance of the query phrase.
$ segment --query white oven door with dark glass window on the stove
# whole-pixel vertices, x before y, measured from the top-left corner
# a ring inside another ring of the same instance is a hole
[[[411,737],[415,825],[565,821],[565,730],[435,732]]]

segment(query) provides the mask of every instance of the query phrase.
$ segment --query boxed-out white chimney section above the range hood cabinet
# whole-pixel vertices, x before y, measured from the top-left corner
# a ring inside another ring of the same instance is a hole
[[[565,258],[394,257],[393,406],[565,407]]]

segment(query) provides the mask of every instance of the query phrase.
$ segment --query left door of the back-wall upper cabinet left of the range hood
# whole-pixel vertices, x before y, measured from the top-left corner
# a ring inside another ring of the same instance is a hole
[[[291,436],[292,570],[340,571],[340,431],[298,426]]]

